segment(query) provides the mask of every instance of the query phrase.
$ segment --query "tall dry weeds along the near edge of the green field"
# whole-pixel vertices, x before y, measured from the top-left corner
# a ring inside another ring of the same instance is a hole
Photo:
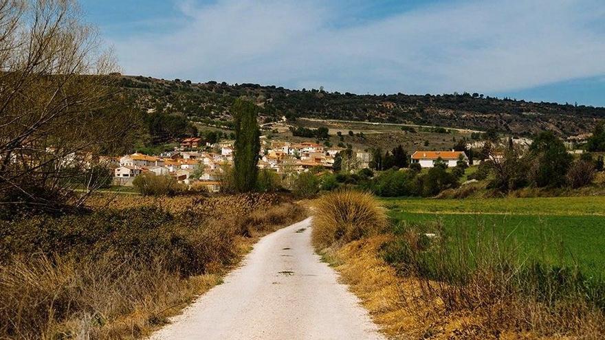
[[[404,308],[423,314],[426,308],[419,306],[437,302],[433,306],[441,317],[470,317],[459,328],[474,328],[477,337],[516,332],[598,339],[605,334],[601,278],[528,260],[515,242],[485,229],[478,231],[483,237],[461,233],[456,240],[439,223],[404,223],[398,229],[399,236],[384,245],[381,255],[399,275],[419,284],[412,299],[416,304]]]

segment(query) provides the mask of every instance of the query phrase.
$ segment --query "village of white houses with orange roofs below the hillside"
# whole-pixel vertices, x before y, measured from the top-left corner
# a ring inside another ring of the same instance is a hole
[[[109,159],[113,168],[115,185],[132,185],[133,179],[144,172],[175,177],[186,184],[205,185],[210,192],[219,192],[225,166],[233,162],[233,142],[225,141],[208,148],[211,151],[190,150],[201,146],[199,139],[184,139],[180,150],[150,156],[141,153]],[[311,168],[331,170],[334,159],[343,148],[322,146],[314,142],[290,143],[287,141],[263,140],[259,168],[278,174],[299,173]],[[342,153],[341,153],[342,155]],[[362,150],[352,150],[349,164],[352,168],[368,168],[371,155]],[[412,163],[423,168],[434,166],[441,159],[448,166],[456,166],[459,159],[468,161],[464,152],[417,151],[411,156]]]

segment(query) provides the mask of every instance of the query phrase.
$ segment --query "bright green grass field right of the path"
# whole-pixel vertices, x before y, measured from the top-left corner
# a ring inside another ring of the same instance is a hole
[[[605,197],[384,199],[395,220],[441,221],[454,240],[505,240],[520,260],[605,276]]]

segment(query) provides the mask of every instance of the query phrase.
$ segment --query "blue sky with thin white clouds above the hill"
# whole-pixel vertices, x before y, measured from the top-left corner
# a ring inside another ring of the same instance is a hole
[[[122,73],[605,106],[603,0],[81,0]]]

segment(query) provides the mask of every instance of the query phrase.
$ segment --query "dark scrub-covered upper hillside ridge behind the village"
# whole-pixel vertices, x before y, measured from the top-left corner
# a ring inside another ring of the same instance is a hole
[[[142,111],[179,113],[190,120],[223,125],[229,106],[247,95],[263,107],[267,122],[286,116],[358,120],[470,128],[495,128],[503,133],[532,135],[550,130],[561,136],[591,131],[605,119],[605,108],[484,97],[478,93],[450,95],[356,95],[312,89],[289,90],[259,84],[192,83],[122,76],[129,102]]]

